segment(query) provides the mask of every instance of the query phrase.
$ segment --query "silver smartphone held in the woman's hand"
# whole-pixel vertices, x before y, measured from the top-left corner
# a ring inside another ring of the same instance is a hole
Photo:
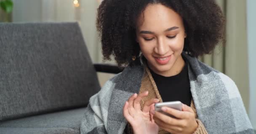
[[[173,109],[182,111],[182,103],[180,101],[169,101],[169,102],[155,103],[155,111],[163,113],[167,116],[171,116],[170,114],[162,111],[161,110],[162,107],[169,107],[169,108],[173,108]],[[171,117],[173,117],[173,116],[171,116]]]

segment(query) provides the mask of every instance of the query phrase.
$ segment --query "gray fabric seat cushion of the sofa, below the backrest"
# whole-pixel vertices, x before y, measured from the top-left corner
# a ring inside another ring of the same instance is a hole
[[[85,108],[0,123],[0,134],[79,134]]]

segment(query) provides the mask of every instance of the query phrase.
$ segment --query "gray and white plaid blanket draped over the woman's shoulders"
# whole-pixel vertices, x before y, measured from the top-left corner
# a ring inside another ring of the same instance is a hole
[[[209,134],[253,134],[252,125],[235,83],[226,75],[182,53],[189,63],[189,80],[198,119]],[[81,134],[125,134],[125,101],[139,93],[144,66],[136,59],[108,80],[90,98],[80,126]]]

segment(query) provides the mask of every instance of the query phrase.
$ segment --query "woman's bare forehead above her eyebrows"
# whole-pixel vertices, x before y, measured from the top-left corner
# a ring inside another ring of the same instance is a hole
[[[171,8],[161,4],[149,4],[139,15],[137,21],[137,28],[140,30],[160,30],[173,26],[183,27],[181,16]]]

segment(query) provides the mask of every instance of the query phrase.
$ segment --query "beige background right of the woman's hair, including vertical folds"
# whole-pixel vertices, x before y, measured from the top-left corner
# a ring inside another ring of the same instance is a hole
[[[224,44],[214,52],[200,58],[206,64],[228,75],[236,83],[243,98],[246,111],[249,110],[248,43],[245,0],[216,0],[226,16]],[[223,47],[224,46],[224,47]]]

